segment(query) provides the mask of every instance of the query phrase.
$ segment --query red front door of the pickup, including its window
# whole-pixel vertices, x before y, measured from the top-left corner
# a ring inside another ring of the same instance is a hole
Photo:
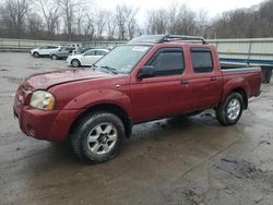
[[[131,87],[134,121],[176,116],[192,108],[181,48],[161,48],[146,65],[154,75],[138,80]]]

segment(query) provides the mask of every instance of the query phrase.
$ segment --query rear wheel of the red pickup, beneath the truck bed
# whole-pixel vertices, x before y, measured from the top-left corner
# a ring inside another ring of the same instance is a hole
[[[235,104],[236,102],[236,104]],[[234,106],[234,110],[228,111],[228,108]],[[230,107],[229,107],[230,106]],[[239,93],[232,93],[225,101],[223,101],[215,110],[216,118],[218,122],[223,125],[234,125],[236,124],[242,113],[244,110],[244,100],[242,96]]]

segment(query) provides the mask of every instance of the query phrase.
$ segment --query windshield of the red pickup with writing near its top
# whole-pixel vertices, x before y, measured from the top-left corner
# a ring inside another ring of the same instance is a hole
[[[94,67],[115,70],[116,73],[130,73],[151,46],[120,46],[97,61]]]

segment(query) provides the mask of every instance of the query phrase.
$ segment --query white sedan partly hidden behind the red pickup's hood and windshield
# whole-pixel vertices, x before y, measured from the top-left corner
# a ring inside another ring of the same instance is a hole
[[[107,52],[109,52],[109,50],[107,49],[91,49],[81,55],[69,56],[67,61],[69,65],[72,65],[74,68],[81,65],[91,67]]]

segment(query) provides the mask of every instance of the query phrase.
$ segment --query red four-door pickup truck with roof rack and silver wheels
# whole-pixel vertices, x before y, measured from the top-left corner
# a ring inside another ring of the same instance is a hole
[[[261,82],[260,68],[222,68],[203,38],[152,35],[91,68],[29,76],[13,108],[26,135],[69,140],[80,159],[100,162],[117,155],[136,123],[207,108],[223,125],[237,123]]]

